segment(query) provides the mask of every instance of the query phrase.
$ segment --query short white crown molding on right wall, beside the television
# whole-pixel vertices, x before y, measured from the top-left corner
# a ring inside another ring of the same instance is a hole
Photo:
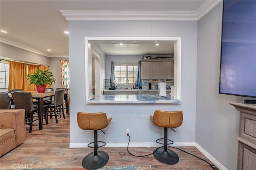
[[[212,10],[215,6],[220,4],[222,0],[206,0],[199,8],[196,10],[196,18],[199,21],[203,18],[210,10]]]

